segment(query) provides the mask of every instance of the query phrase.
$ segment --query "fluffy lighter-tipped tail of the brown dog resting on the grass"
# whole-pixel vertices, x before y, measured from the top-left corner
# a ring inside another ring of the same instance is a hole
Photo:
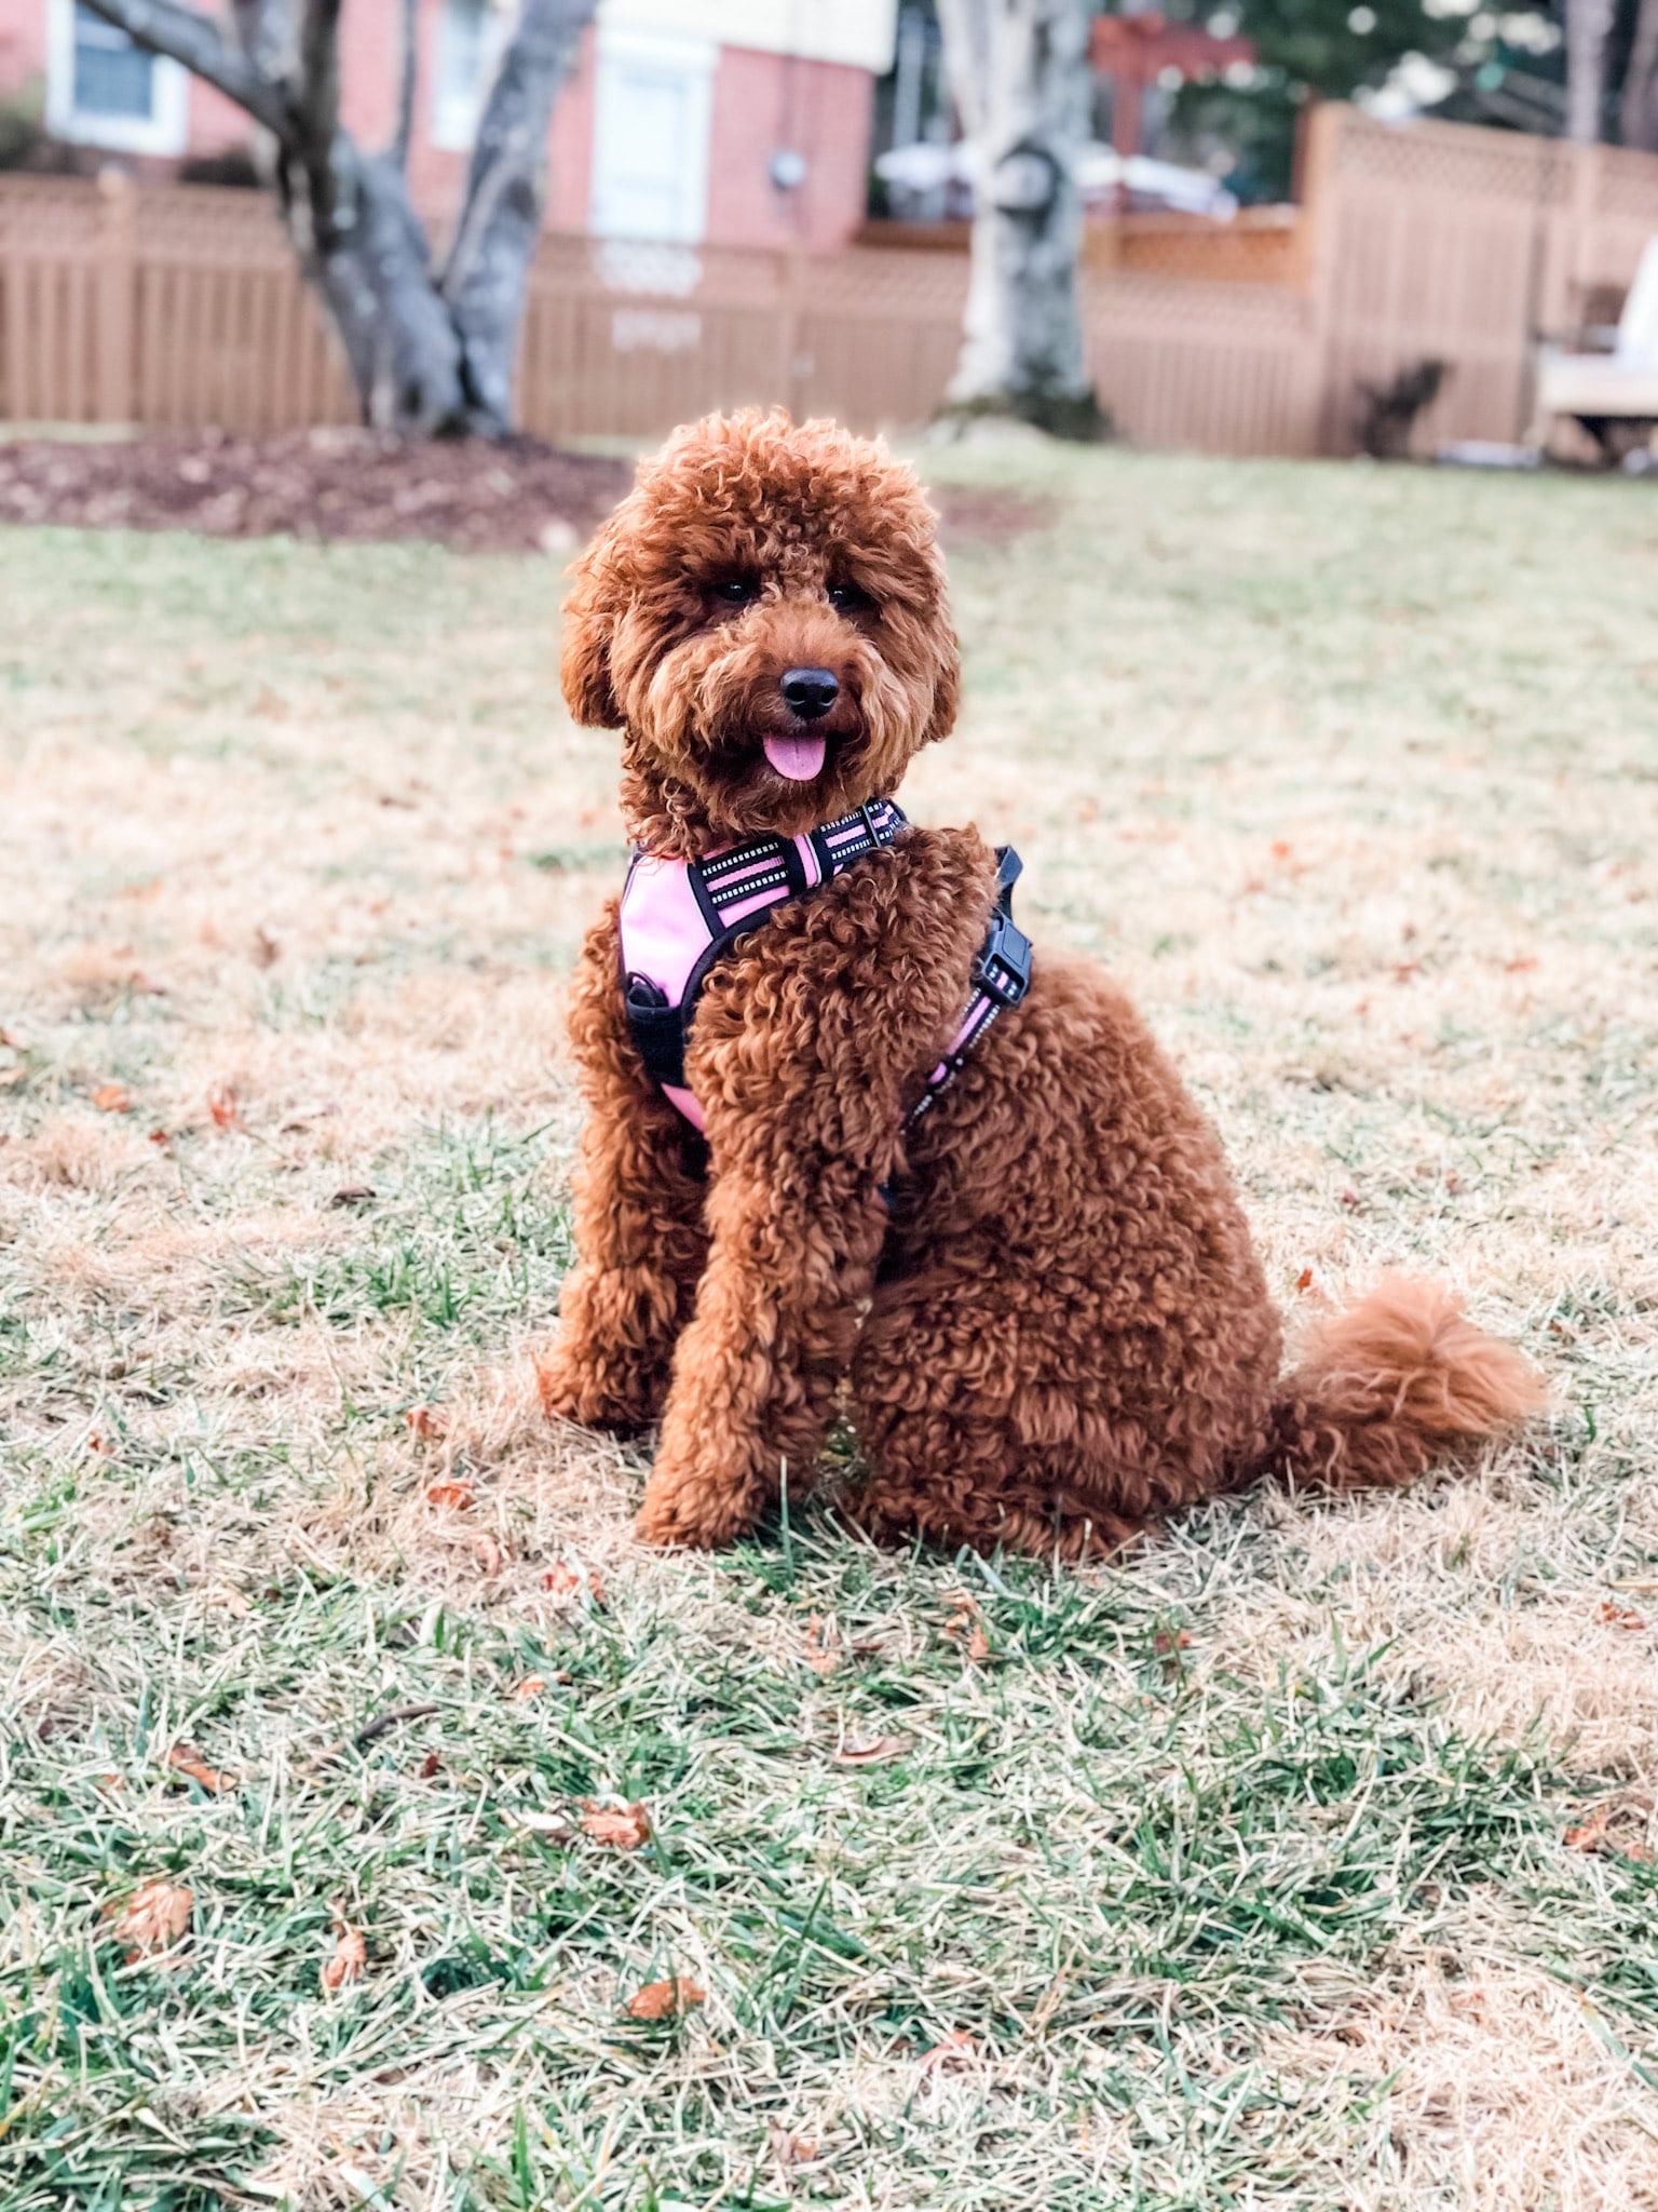
[[[1395,1274],[1313,1329],[1234,1482],[1393,1486],[1545,1405],[1532,1367],[1477,1329],[1452,1292]]]

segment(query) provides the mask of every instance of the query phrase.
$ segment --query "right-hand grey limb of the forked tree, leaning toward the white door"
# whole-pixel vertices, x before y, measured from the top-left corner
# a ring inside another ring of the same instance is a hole
[[[511,420],[513,343],[542,230],[546,133],[597,0],[524,0],[478,124],[440,290],[484,414]]]

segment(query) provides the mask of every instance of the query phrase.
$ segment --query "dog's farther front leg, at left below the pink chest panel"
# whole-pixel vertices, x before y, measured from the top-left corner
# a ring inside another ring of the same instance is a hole
[[[674,1340],[707,1254],[699,1141],[646,1075],[617,987],[615,902],[570,991],[588,1124],[575,1186],[577,1265],[542,1360],[548,1413],[634,1429],[661,1413]]]

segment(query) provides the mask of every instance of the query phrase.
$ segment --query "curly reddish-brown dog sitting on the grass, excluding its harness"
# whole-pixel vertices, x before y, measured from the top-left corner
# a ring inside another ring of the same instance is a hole
[[[875,836],[957,703],[933,513],[880,447],[776,414],[679,431],[577,564],[564,692],[623,732],[634,867],[869,827],[714,960],[679,1104],[630,1026],[617,900],[581,956],[579,1265],[542,1387],[577,1422],[661,1420],[641,1535],[736,1537],[811,1482],[838,1405],[867,1528],[1077,1557],[1267,1473],[1406,1482],[1541,1402],[1406,1281],[1280,1378],[1220,1146],[1085,960],[1043,951],[915,1117],[997,858],[975,830]]]

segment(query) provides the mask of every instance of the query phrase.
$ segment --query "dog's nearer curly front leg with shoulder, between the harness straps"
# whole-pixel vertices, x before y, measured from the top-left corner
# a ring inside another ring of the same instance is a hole
[[[714,971],[690,1084],[712,1245],[639,1533],[723,1544],[807,1489],[904,1159],[904,1097],[962,1013],[995,900],[975,836],[909,832]]]

